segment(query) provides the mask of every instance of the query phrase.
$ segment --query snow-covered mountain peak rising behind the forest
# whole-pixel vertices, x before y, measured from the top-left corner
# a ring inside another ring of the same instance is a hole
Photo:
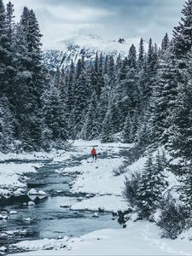
[[[88,35],[62,40],[60,42],[61,49],[48,49],[44,51],[44,64],[49,69],[66,68],[71,61],[77,61],[84,55],[85,61],[93,61],[96,52],[103,55],[113,55],[117,58],[118,55],[128,55],[131,44],[134,44],[137,49],[140,38],[118,38],[116,40],[107,40],[96,35]],[[145,43],[147,48],[148,43]]]

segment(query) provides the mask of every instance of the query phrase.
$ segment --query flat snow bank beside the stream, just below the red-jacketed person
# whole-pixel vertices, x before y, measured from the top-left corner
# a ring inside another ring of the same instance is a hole
[[[89,193],[100,195],[121,195],[124,187],[124,175],[113,176],[113,168],[122,165],[124,158],[119,159],[98,159],[92,162],[91,159],[82,160],[80,166],[66,168],[61,172],[81,173],[73,183],[73,193]]]

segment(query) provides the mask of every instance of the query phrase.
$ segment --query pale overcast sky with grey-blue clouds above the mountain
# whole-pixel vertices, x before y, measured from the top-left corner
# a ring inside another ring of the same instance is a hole
[[[8,0],[4,0],[7,3]],[[158,44],[180,20],[184,0],[12,0],[18,17],[24,6],[38,17],[44,49],[94,34],[105,39],[153,38]]]

